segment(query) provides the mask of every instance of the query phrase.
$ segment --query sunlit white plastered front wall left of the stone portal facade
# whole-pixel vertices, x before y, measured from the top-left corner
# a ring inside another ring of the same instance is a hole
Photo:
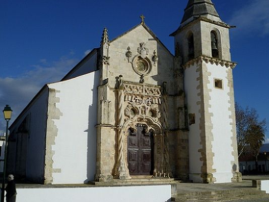
[[[58,132],[52,144],[52,184],[86,183],[94,179],[96,162],[97,85],[99,71],[49,84],[56,89],[60,111],[53,120]]]

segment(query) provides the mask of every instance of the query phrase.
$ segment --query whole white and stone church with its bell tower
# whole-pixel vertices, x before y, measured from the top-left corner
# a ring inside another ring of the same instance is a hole
[[[105,28],[100,47],[45,84],[10,126],[8,172],[43,184],[240,181],[233,26],[211,0],[186,3],[174,54],[142,15],[117,38]]]

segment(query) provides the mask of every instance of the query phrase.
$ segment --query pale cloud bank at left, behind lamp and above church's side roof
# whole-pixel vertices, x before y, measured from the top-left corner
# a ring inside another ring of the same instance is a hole
[[[46,65],[43,62],[46,62]],[[59,81],[68,73],[78,60],[61,57],[49,64],[42,59],[41,64],[17,77],[0,77],[0,108],[10,105],[13,110],[13,121],[30,102],[41,87],[49,82]],[[0,109],[2,111],[2,109]],[[5,120],[0,118],[0,129],[5,129]]]

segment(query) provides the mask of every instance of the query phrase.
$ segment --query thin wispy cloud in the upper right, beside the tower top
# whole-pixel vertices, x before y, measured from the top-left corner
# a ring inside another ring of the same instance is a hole
[[[252,0],[245,3],[249,4],[236,10],[229,24],[237,25],[238,33],[269,34],[269,1]]]

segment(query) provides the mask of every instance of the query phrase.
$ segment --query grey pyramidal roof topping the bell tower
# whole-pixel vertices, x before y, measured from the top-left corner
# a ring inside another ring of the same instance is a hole
[[[189,0],[181,24],[187,24],[193,18],[204,16],[211,20],[221,21],[215,5],[211,0]],[[222,22],[222,21],[221,21]]]

